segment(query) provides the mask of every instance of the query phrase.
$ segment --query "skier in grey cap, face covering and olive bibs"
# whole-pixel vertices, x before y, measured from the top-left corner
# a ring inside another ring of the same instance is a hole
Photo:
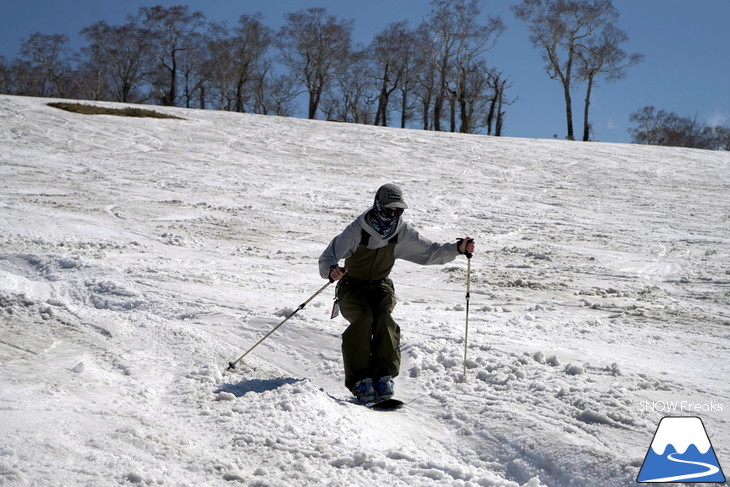
[[[395,260],[446,264],[474,251],[469,237],[445,244],[421,237],[401,218],[406,208],[398,186],[381,186],[372,208],[333,238],[319,258],[320,275],[339,281],[336,303],[350,323],[342,334],[345,386],[361,402],[393,397],[400,369],[400,327],[391,317],[395,288],[388,278]]]

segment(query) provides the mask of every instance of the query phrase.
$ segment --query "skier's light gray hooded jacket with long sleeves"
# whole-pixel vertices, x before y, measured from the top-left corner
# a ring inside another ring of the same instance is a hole
[[[357,217],[342,233],[333,238],[322,252],[319,258],[319,274],[322,278],[329,279],[332,266],[339,265],[340,260],[355,253],[362,240],[363,229],[370,235],[368,243],[370,250],[387,246],[388,241],[398,235],[398,243],[395,245],[396,259],[405,259],[421,265],[434,265],[446,264],[459,255],[456,242],[445,244],[431,242],[421,237],[416,230],[403,221],[403,218],[398,221],[393,235],[384,239],[370,224],[369,212],[370,210],[367,210]]]

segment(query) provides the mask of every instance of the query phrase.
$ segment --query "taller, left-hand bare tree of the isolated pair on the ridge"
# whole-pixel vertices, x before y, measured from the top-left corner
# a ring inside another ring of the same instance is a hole
[[[543,51],[550,78],[562,84],[567,138],[574,140],[571,83],[578,45],[615,23],[618,13],[611,0],[522,0],[511,9],[527,25],[532,44]]]

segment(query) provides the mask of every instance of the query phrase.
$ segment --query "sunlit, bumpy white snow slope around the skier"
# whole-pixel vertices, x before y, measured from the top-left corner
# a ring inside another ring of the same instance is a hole
[[[730,154],[0,96],[0,485],[622,486],[730,465]],[[343,400],[329,240],[395,182],[400,411]],[[674,405],[677,409],[671,411]]]

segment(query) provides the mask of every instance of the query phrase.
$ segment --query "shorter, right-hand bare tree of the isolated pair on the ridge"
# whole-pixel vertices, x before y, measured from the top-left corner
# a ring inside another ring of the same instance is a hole
[[[626,77],[626,68],[640,63],[644,58],[642,54],[626,54],[619,47],[626,40],[628,36],[623,30],[614,24],[606,24],[598,36],[577,46],[579,75],[587,83],[583,111],[584,141],[590,139],[591,124],[588,121],[588,109],[596,77],[603,75],[606,81],[623,79]]]

